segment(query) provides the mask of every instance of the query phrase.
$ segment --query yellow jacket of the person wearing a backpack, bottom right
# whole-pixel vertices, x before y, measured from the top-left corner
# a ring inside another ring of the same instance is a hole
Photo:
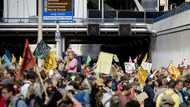
[[[156,107],[160,107],[160,103],[161,103],[162,97],[165,94],[171,96],[171,98],[173,99],[173,101],[175,103],[173,107],[179,107],[179,105],[180,105],[180,98],[179,98],[179,96],[172,89],[167,89],[166,91],[164,91],[164,93],[161,93],[157,97],[157,99],[156,99]]]

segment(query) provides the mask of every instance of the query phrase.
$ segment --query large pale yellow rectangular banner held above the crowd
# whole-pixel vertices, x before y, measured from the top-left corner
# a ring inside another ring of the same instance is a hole
[[[113,54],[100,52],[97,62],[97,73],[110,74],[113,61]]]

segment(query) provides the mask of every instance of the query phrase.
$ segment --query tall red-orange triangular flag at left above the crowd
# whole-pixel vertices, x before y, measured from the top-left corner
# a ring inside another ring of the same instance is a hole
[[[26,39],[24,45],[24,53],[23,53],[23,63],[21,65],[21,72],[27,69],[31,69],[35,66],[36,61],[33,57],[33,54],[30,51],[28,39]]]

